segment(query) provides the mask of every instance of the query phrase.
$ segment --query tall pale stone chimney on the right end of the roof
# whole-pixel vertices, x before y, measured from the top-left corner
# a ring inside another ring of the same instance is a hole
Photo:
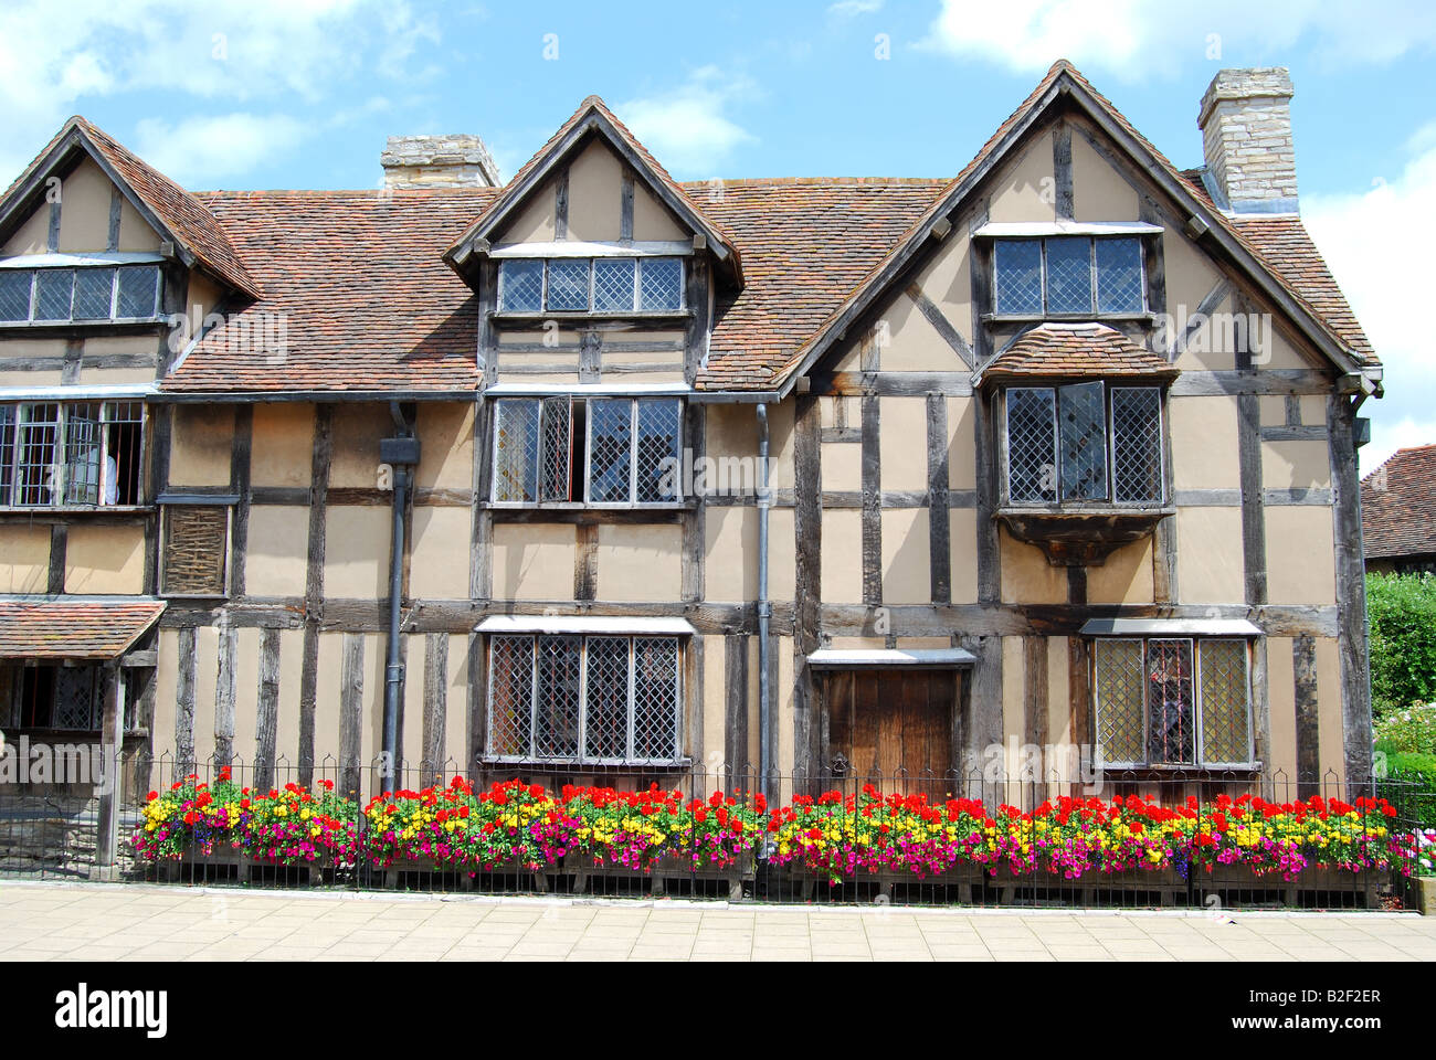
[[[1202,131],[1208,191],[1223,208],[1238,214],[1297,213],[1291,96],[1285,66],[1219,70],[1212,78],[1196,126]]]

